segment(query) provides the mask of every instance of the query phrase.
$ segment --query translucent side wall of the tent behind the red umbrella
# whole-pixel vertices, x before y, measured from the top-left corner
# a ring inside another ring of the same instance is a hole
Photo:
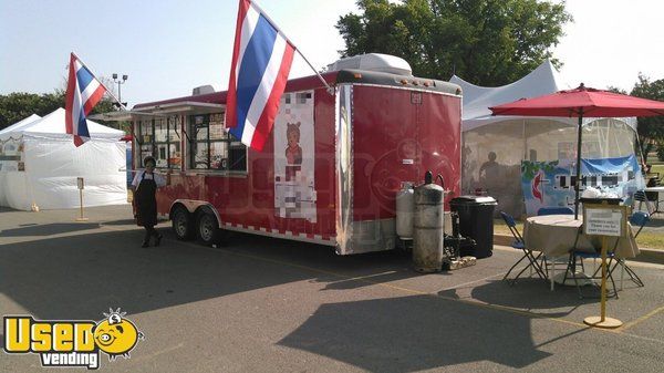
[[[517,117],[463,133],[461,190],[486,191],[498,200],[497,211],[525,213],[521,159],[575,158],[577,128],[553,118]],[[583,126],[584,158],[621,157],[634,153],[635,132],[622,120],[598,118]],[[496,153],[497,175],[480,175],[490,152]]]

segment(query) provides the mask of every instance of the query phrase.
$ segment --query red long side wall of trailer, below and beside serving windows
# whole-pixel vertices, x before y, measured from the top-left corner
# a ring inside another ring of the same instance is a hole
[[[274,216],[273,134],[262,152],[249,149],[248,174],[175,173],[170,185],[157,194],[159,214],[167,215],[174,200],[197,199],[211,203],[222,222],[280,234],[334,237],[334,96],[324,89],[314,92],[314,147],[317,222]]]

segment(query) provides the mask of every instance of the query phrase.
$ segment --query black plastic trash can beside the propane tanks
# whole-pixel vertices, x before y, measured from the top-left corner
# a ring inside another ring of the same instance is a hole
[[[461,256],[481,259],[494,255],[496,205],[496,199],[488,196],[461,196],[449,201],[450,209],[459,215],[459,232],[477,244],[474,249],[463,249]]]

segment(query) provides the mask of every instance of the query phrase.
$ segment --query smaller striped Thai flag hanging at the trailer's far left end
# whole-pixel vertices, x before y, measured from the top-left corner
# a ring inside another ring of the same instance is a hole
[[[74,53],[70,59],[70,74],[66,82],[64,124],[66,133],[74,135],[74,145],[83,145],[90,139],[85,117],[102,100],[106,87],[79,61]]]

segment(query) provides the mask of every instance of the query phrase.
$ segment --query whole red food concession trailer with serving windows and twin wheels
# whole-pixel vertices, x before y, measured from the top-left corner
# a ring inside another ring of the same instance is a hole
[[[430,170],[446,206],[460,190],[460,89],[443,81],[340,70],[288,82],[262,152],[224,127],[226,92],[143,103],[134,168],[152,155],[168,174],[158,213],[178,238],[211,244],[235,230],[334,246],[395,248],[395,197]]]

